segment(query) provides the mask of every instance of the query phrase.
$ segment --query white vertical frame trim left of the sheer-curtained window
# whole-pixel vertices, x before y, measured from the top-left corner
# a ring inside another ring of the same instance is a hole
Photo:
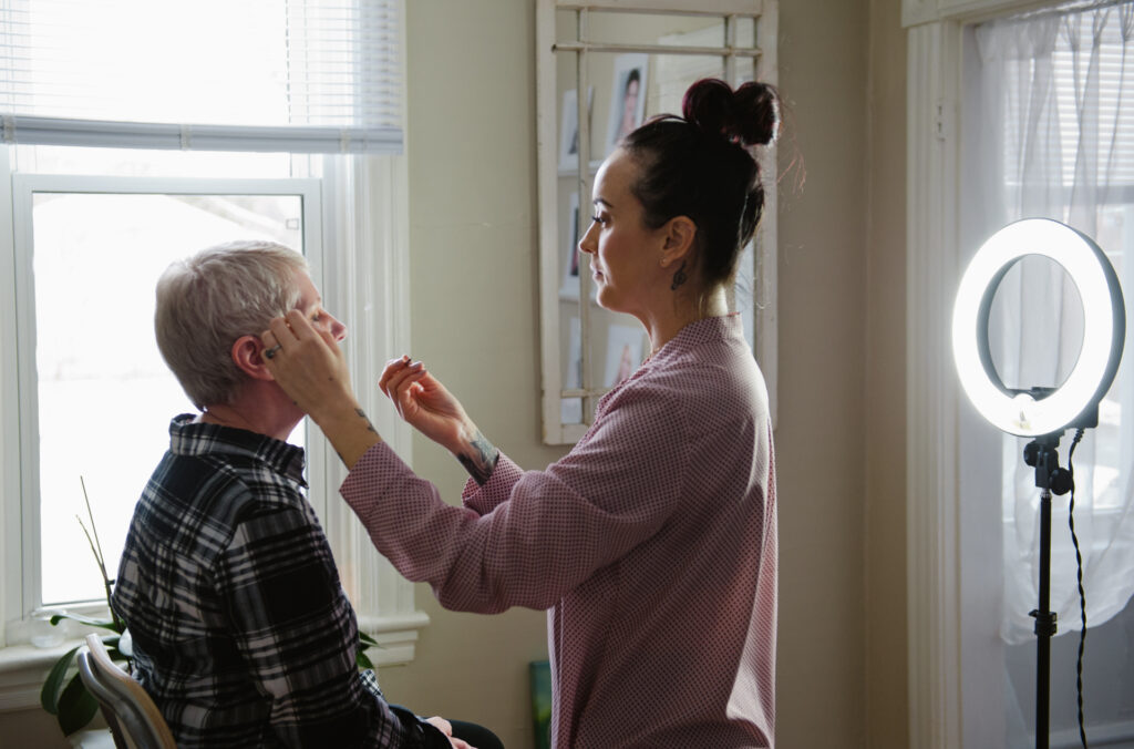
[[[964,35],[997,16],[1058,0],[903,0],[906,59],[906,595],[909,746],[963,747],[990,709],[965,673],[989,676],[987,628],[967,601],[959,384],[950,325],[960,280]],[[999,530],[998,530],[999,532]],[[1000,675],[991,675],[999,705]],[[975,709],[980,708],[980,709]],[[1002,721],[1004,710],[992,719]]]

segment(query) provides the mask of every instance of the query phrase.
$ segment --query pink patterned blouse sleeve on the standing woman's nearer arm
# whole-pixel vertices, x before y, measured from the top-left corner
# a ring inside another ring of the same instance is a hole
[[[594,571],[652,537],[678,505],[688,460],[675,397],[624,388],[591,432],[543,471],[501,455],[492,477],[446,504],[384,444],[340,491],[371,539],[448,608],[549,608]]]

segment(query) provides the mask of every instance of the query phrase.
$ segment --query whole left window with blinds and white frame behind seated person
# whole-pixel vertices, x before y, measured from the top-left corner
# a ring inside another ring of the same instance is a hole
[[[405,315],[390,313],[408,304],[400,2],[206,2],[189,34],[152,2],[64,5],[0,5],[0,646],[27,642],[45,606],[104,608],[78,477],[117,565],[168,419],[192,410],[152,343],[153,283],[171,258],[281,241],[350,326],[355,381],[408,347]],[[146,65],[113,42],[122,33],[147,40]],[[214,45],[204,62],[202,40]],[[408,458],[405,426],[359,398]],[[380,662],[412,658],[428,622],[413,587],[328,500],[344,470],[322,436],[294,437],[361,626],[383,641]]]

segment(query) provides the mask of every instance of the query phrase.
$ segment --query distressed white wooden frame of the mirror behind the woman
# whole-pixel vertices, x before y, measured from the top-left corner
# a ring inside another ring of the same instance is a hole
[[[575,11],[578,23],[575,41],[557,43],[557,12]],[[587,22],[591,17],[603,12],[643,12],[657,15],[691,15],[720,18],[725,24],[726,44],[702,51],[702,54],[719,51],[723,58],[725,78],[733,85],[739,83],[737,77],[738,58],[753,58],[755,76],[760,81],[778,84],[777,66],[777,30],[778,0],[606,0],[598,2],[579,2],[578,0],[538,0],[536,3],[536,151],[538,151],[538,192],[540,214],[540,329],[541,329],[541,364],[542,364],[542,413],[543,441],[549,445],[568,445],[578,441],[590,428],[596,399],[607,392],[606,387],[596,387],[589,381],[591,367],[589,362],[590,304],[579,304],[579,327],[582,338],[583,381],[578,388],[566,389],[562,378],[562,357],[560,338],[559,287],[562,272],[560,256],[560,218],[559,200],[559,140],[558,140],[558,104],[562,91],[557,86],[556,54],[574,54],[576,61],[575,91],[589,91],[586,56],[591,52],[648,52],[666,53],[670,49],[683,49],[682,54],[688,54],[689,48],[665,48],[660,44],[641,44],[634,42],[594,42],[586,36]],[[755,23],[755,45],[736,44],[736,24],[738,19],[753,19]],[[581,102],[582,103],[582,102]],[[582,106],[577,111],[581,111]],[[578,194],[581,204],[589,204],[590,188],[593,175],[586,154],[591,149],[590,118],[578,118]],[[777,414],[777,200],[776,149],[764,149],[761,154],[761,171],[765,182],[764,216],[753,239],[753,251],[745,252],[737,273],[741,279],[748,279],[751,288],[745,294],[751,296],[746,314],[745,330],[751,333],[750,344],[756,362],[760,364],[768,386],[769,406],[772,424]],[[578,235],[586,230],[584,212],[579,211]],[[591,295],[591,281],[586,273],[579,273],[579,298]],[[735,295],[733,295],[735,298]],[[731,302],[731,300],[730,300]],[[735,309],[735,306],[734,306]],[[564,423],[560,405],[562,398],[578,397],[583,399],[583,423]]]

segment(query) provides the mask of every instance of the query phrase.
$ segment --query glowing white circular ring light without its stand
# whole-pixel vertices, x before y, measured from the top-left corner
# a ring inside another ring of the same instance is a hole
[[[1078,361],[1063,386],[1039,397],[1005,387],[989,352],[992,298],[1000,279],[1024,255],[1059,263],[1083,302]],[[1085,235],[1050,219],[1024,219],[993,234],[965,271],[953,312],[953,353],[962,387],[981,415],[1021,437],[1061,431],[1097,406],[1114,381],[1125,336],[1126,308],[1110,261]]]

